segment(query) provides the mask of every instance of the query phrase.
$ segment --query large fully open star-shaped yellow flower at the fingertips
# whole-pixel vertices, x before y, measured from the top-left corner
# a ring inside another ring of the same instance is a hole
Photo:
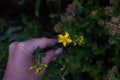
[[[71,43],[72,39],[69,38],[69,33],[65,32],[65,35],[58,35],[58,43],[63,43],[63,46],[66,46],[67,44]]]

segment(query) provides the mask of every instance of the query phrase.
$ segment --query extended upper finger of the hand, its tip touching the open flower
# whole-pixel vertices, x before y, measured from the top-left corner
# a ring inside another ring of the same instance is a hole
[[[37,47],[39,47],[40,49],[53,47],[57,43],[57,40],[51,38],[37,38],[24,41],[24,43],[26,45],[26,49],[29,52],[33,52]]]

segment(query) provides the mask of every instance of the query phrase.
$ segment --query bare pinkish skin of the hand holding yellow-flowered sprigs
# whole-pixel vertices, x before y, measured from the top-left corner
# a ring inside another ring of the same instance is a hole
[[[9,46],[9,56],[7,68],[3,80],[42,80],[42,76],[46,70],[42,67],[42,73],[35,74],[35,70],[29,70],[29,67],[35,63],[32,55],[33,51],[39,47],[44,50],[47,47],[54,47],[57,43],[56,39],[37,38],[23,42],[13,42]],[[62,48],[57,50],[46,51],[46,56],[42,57],[42,63],[49,64],[56,58],[56,55],[62,52]]]

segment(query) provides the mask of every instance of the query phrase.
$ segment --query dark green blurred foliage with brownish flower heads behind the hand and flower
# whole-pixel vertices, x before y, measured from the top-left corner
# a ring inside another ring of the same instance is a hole
[[[10,43],[65,31],[85,44],[65,47],[43,80],[120,79],[120,0],[14,0],[0,10],[0,79]]]

